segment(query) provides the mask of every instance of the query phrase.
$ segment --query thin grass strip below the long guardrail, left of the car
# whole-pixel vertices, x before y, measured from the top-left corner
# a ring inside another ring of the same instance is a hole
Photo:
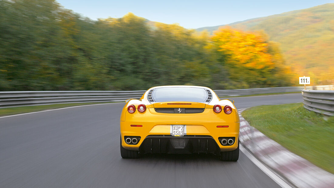
[[[107,102],[107,103],[119,103],[119,102]],[[15,115],[15,114],[29,113],[29,112],[38,112],[38,111],[43,111],[43,110],[52,110],[52,109],[59,109],[59,108],[66,108],[66,107],[95,105],[95,104],[104,104],[104,103],[68,103],[68,104],[2,108],[0,109],[0,117]]]

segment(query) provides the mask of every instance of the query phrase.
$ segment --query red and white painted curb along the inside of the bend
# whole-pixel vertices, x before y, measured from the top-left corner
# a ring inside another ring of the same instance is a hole
[[[334,175],[290,152],[250,126],[240,115],[240,143],[296,187],[333,188]]]

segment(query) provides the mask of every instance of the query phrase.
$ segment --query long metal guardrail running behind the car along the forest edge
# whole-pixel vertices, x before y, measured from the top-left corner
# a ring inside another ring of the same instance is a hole
[[[333,89],[333,85],[308,86],[308,89]],[[255,89],[215,90],[219,97],[242,96],[261,93],[301,91],[303,87],[269,87]],[[91,103],[139,99],[145,90],[139,91],[1,91],[0,108],[49,105],[63,103]]]

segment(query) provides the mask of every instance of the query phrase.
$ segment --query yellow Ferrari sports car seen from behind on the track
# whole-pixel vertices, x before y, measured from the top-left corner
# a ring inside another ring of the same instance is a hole
[[[233,100],[220,100],[208,87],[157,86],[122,110],[121,156],[145,153],[211,153],[222,161],[239,158],[239,115]]]

